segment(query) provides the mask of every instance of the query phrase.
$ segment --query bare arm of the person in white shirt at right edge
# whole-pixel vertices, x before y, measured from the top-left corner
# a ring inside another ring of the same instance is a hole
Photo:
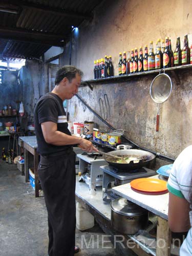
[[[180,198],[169,193],[168,225],[173,232],[185,232],[190,228],[189,203],[185,198]]]

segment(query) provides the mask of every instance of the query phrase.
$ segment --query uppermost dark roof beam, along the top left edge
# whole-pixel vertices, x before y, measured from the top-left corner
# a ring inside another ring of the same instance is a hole
[[[42,11],[42,12],[46,12],[53,15],[74,17],[74,18],[87,19],[87,20],[91,20],[93,18],[90,14],[88,15],[83,13],[71,12],[61,8],[48,7],[40,4],[28,3],[22,0],[14,0],[14,5],[13,5],[13,1],[11,0],[0,0],[0,7],[4,7],[8,9],[9,8],[18,9],[18,7],[30,8],[30,9],[33,8],[33,9],[36,9],[37,11]]]

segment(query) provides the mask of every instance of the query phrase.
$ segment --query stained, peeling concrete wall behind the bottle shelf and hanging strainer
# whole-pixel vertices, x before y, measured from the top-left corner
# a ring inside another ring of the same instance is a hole
[[[191,34],[191,24],[189,0],[106,0],[95,11],[92,23],[86,22],[79,29],[77,67],[84,72],[83,80],[92,79],[94,59],[111,54],[117,75],[119,51],[143,46],[150,40],[156,42],[157,38],[165,36],[172,39],[174,50],[177,36],[181,37],[183,46],[184,35]],[[189,35],[189,45],[191,43]],[[173,92],[160,110],[159,133],[156,132],[157,105],[150,97],[150,84],[155,75],[97,84],[93,91],[82,87],[79,95],[100,114],[98,100],[108,94],[111,117],[107,121],[112,126],[125,129],[126,137],[141,146],[177,157],[192,140],[192,72],[179,72],[178,75],[181,84],[177,86],[170,74]],[[69,110],[71,121],[94,120],[101,129],[106,129],[76,97],[69,103]]]

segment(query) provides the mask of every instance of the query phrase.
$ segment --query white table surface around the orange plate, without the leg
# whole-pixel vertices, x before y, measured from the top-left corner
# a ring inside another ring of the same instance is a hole
[[[160,175],[155,175],[150,178],[161,179]],[[168,191],[163,195],[141,194],[134,191],[131,188],[130,183],[113,187],[112,189],[115,194],[140,205],[165,220],[168,220]]]

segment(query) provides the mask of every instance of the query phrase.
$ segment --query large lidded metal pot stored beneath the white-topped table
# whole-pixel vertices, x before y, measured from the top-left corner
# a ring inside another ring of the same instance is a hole
[[[111,202],[111,224],[119,233],[135,234],[148,223],[148,211],[125,198]]]

